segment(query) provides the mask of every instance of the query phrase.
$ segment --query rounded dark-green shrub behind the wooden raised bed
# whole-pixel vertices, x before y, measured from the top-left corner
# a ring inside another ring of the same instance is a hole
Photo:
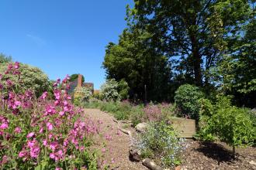
[[[199,119],[199,99],[203,93],[198,87],[185,84],[178,87],[175,92],[175,104],[180,109],[183,117],[190,117],[195,120]]]

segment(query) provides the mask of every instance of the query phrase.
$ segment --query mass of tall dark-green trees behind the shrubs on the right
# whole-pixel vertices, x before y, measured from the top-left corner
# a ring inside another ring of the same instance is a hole
[[[103,63],[109,79],[126,80],[131,99],[174,100],[189,83],[206,95],[233,95],[237,106],[256,106],[254,1],[134,3]]]

